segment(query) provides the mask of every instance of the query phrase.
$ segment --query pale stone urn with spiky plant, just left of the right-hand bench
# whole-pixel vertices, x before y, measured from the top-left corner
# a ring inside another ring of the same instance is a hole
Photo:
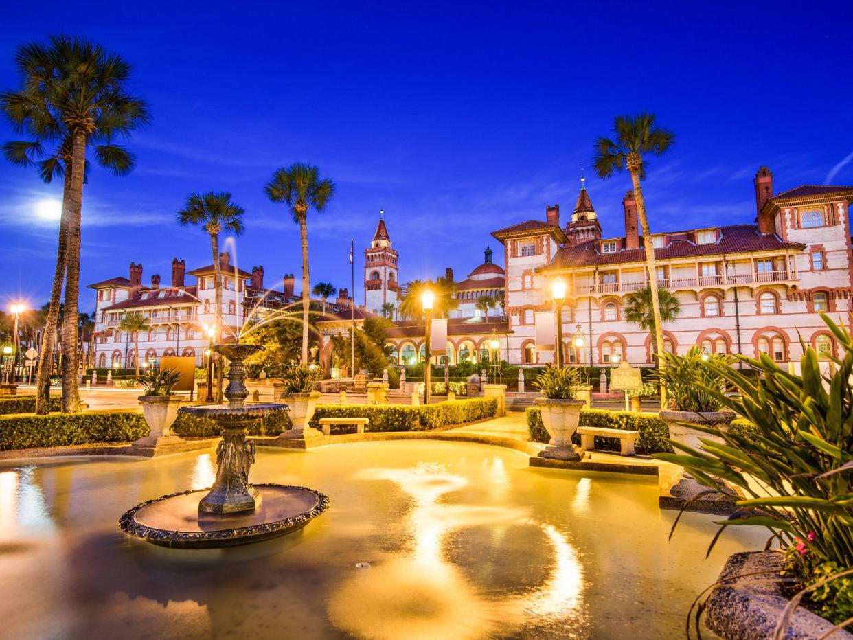
[[[542,423],[551,436],[550,445],[540,451],[541,457],[579,461],[583,449],[572,444],[572,435],[577,430],[583,400],[577,395],[583,387],[580,370],[575,367],[559,369],[548,366],[532,382],[542,393],[535,400],[542,411]]]

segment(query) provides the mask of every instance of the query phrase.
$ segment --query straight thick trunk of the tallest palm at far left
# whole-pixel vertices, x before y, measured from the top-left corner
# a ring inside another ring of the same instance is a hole
[[[65,262],[65,303],[62,308],[62,411],[79,409],[77,362],[77,312],[80,294],[80,224],[83,209],[83,170],[86,160],[86,134],[74,133],[71,162]]]

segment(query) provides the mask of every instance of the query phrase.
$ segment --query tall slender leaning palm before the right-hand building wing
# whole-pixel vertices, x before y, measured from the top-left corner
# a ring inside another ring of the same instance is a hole
[[[652,232],[649,230],[646,215],[646,200],[642,194],[641,180],[646,177],[646,160],[648,155],[663,154],[675,142],[676,136],[671,131],[654,124],[653,113],[639,113],[635,116],[619,116],[614,122],[615,139],[600,137],[595,142],[595,157],[593,165],[595,172],[601,177],[611,177],[614,172],[627,169],[634,188],[634,198],[637,203],[637,215],[642,229],[643,249],[646,253],[646,269],[648,282],[657,285],[658,274],[654,264],[654,248]],[[652,313],[654,322],[654,341],[657,352],[664,352],[664,334],[661,329],[660,300],[658,287],[652,286]],[[658,359],[658,366],[664,366],[663,358]],[[661,406],[665,406],[666,392],[660,387]]]

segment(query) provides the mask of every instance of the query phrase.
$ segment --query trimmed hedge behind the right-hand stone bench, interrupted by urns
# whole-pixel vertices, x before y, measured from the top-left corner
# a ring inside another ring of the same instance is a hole
[[[529,407],[527,414],[527,432],[531,440],[548,444],[551,439],[542,423],[542,412],[539,407]],[[578,427],[599,427],[607,429],[625,429],[639,431],[640,439],[636,442],[637,453],[652,454],[672,452],[672,447],[664,438],[670,437],[670,429],[666,422],[656,413],[635,413],[634,411],[609,411],[606,409],[582,409]],[[740,433],[749,433],[752,423],[738,418],[732,422],[731,428]],[[575,444],[580,444],[580,436],[572,436]],[[596,438],[595,448],[604,451],[618,451],[619,442],[613,438]]]

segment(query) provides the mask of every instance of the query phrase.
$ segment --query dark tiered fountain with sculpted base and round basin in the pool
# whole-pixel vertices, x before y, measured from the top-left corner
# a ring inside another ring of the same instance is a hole
[[[255,444],[247,440],[252,421],[287,404],[244,404],[243,361],[258,345],[218,345],[230,361],[228,405],[203,404],[180,412],[210,418],[223,427],[217,446],[217,473],[209,489],[187,490],[137,504],[121,516],[119,527],[137,538],[167,547],[201,549],[276,538],[305,527],[328,508],[328,497],[303,486],[251,485],[249,468]],[[204,497],[196,495],[206,493]]]

